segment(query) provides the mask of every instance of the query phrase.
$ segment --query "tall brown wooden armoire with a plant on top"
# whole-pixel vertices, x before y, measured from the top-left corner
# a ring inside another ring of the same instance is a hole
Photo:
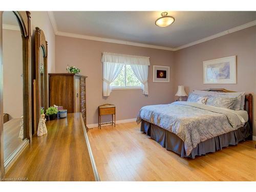
[[[86,125],[86,78],[72,73],[49,73],[49,106],[63,106],[68,113],[82,113]]]

